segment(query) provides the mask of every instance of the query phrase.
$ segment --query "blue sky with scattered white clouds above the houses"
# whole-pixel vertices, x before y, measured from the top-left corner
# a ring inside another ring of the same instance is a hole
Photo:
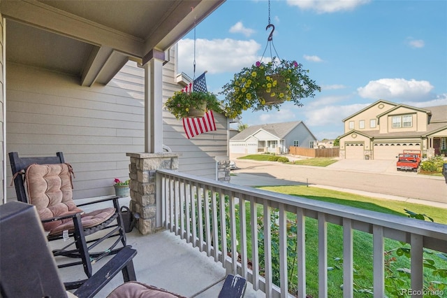
[[[447,104],[447,1],[271,0],[270,20],[278,56],[309,69],[321,92],[302,107],[245,111],[244,124],[302,120],[318,139],[335,139],[344,118],[379,99]],[[208,91],[261,59],[267,25],[268,1],[251,0],[227,0],[197,24],[196,76],[207,71]],[[179,71],[191,78],[193,38],[178,52]]]

